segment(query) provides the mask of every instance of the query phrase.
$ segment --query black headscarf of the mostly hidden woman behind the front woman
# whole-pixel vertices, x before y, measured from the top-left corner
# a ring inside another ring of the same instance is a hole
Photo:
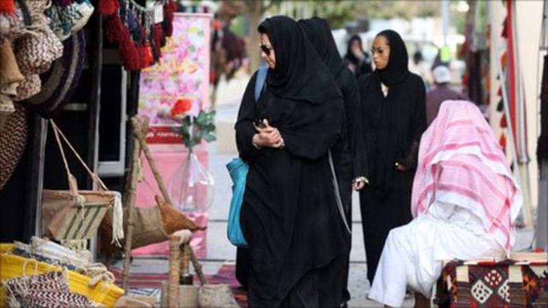
[[[340,58],[340,53],[338,53],[335,39],[331,34],[331,28],[329,28],[327,21],[323,18],[312,17],[301,19],[299,25],[303,27],[308,39],[322,58],[323,63],[331,71],[333,77],[337,78],[345,66]]]

